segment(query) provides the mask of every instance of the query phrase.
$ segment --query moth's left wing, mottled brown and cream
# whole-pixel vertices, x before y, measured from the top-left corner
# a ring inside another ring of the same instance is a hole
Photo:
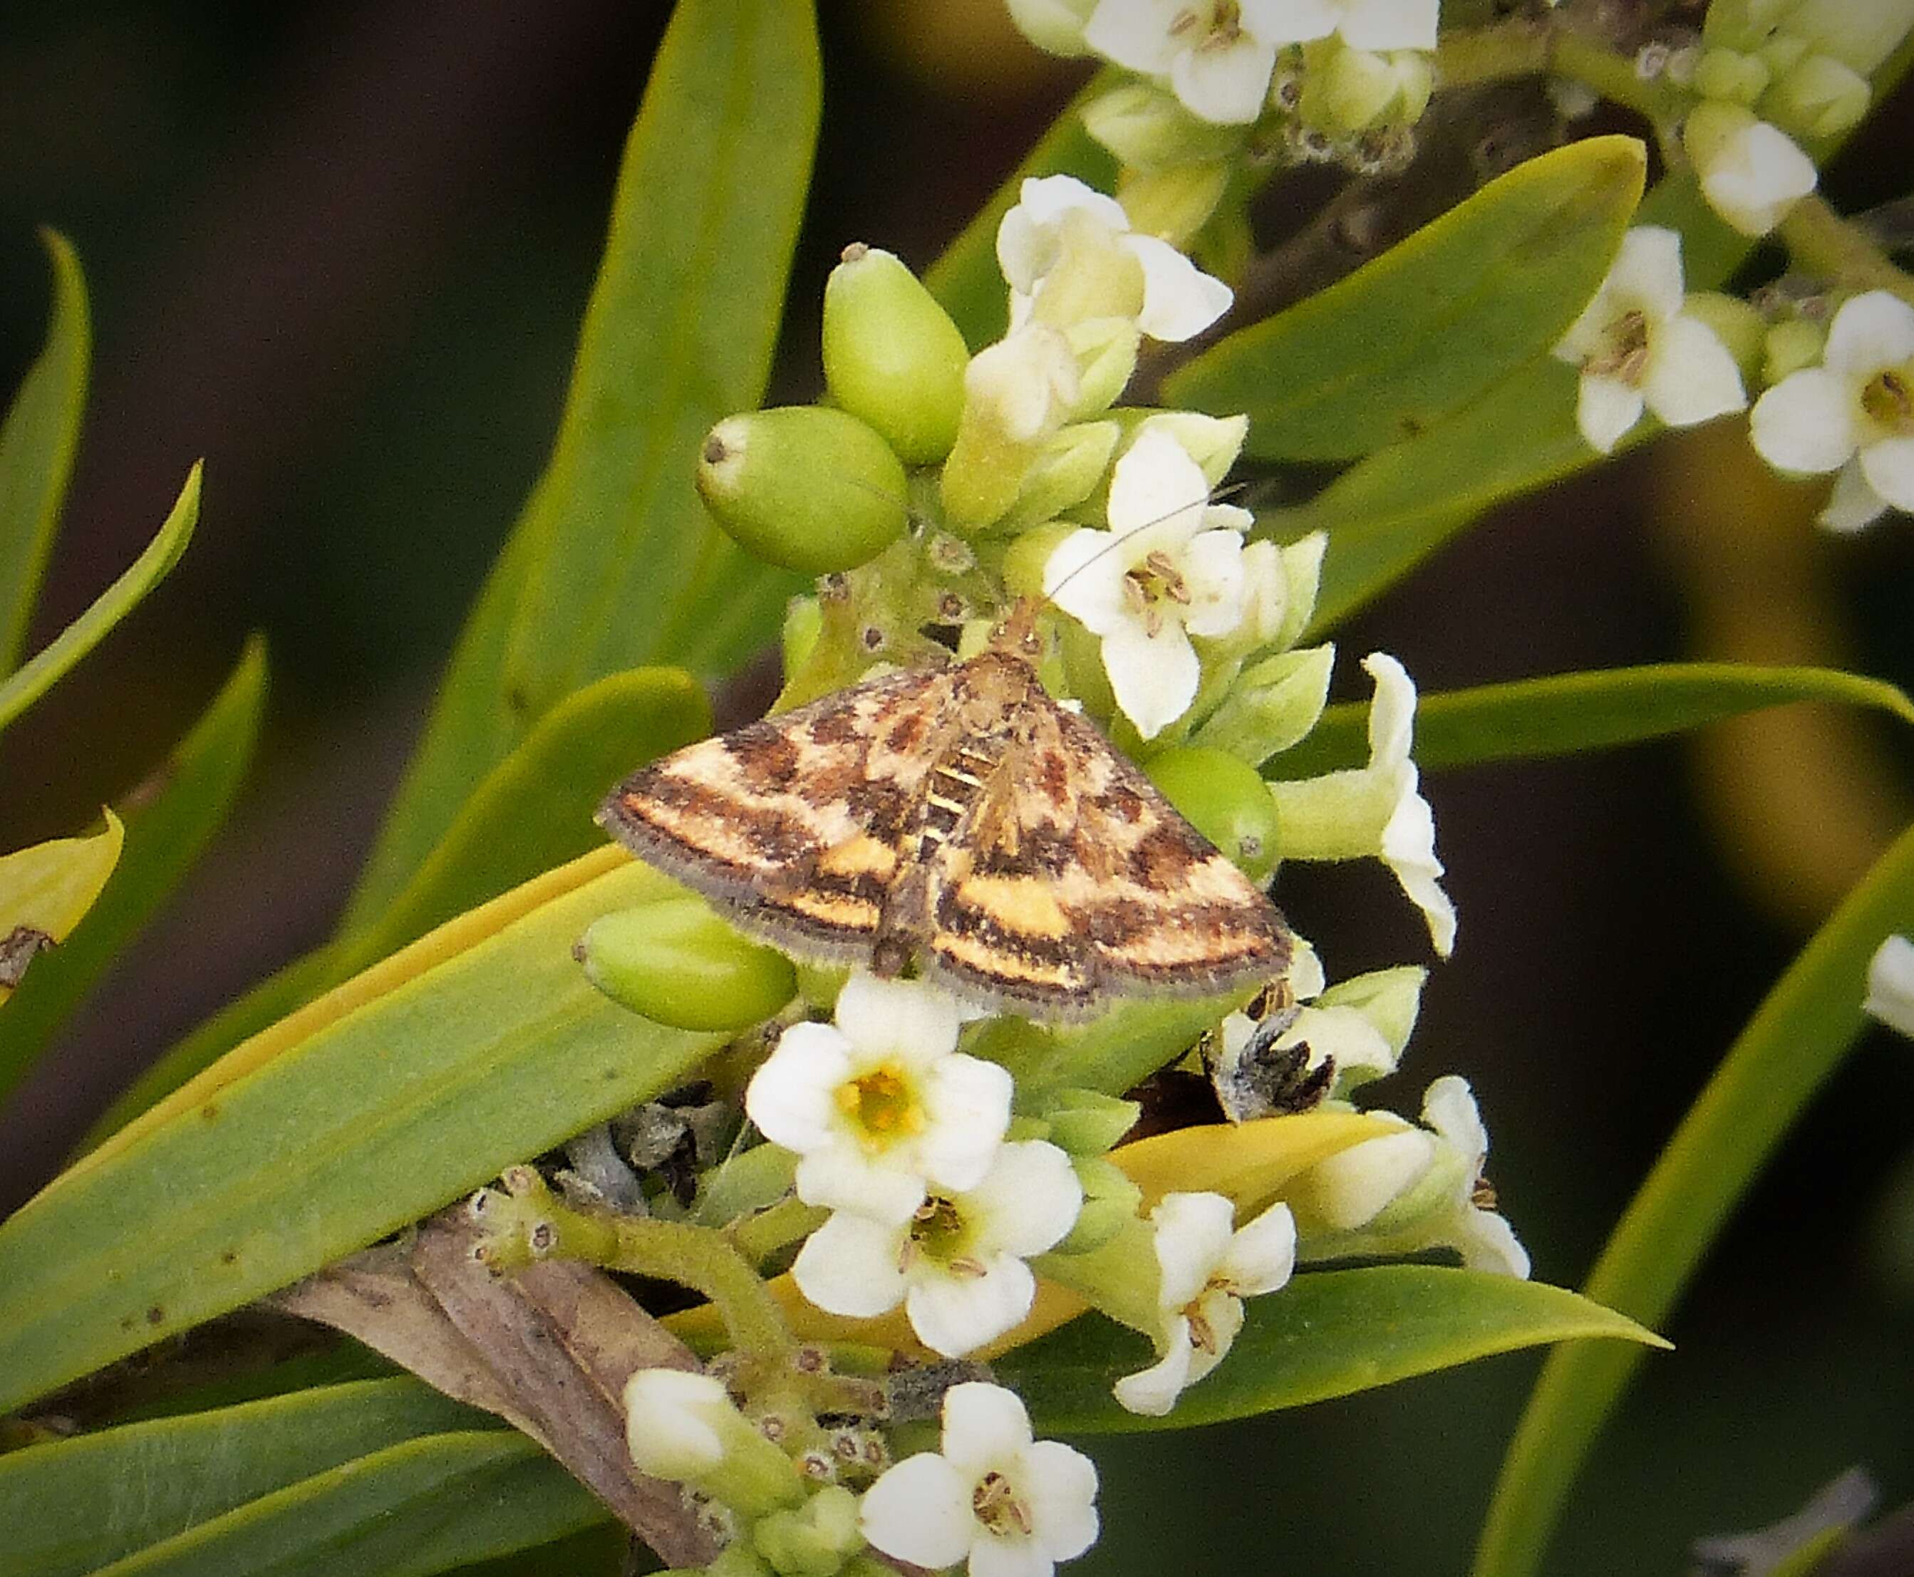
[[[743,928],[865,963],[949,714],[949,670],[871,679],[666,756],[599,823]]]

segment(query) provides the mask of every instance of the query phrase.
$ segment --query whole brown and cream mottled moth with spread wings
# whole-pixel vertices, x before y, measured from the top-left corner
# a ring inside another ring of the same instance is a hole
[[[968,658],[691,744],[599,823],[792,957],[1085,1018],[1282,974],[1248,877],[1037,679],[1035,609]]]

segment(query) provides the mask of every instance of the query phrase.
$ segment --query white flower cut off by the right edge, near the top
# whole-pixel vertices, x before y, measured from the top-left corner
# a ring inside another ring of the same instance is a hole
[[[1914,509],[1914,306],[1887,291],[1845,302],[1818,367],[1755,400],[1755,450],[1780,471],[1839,471],[1820,522],[1858,530]]]

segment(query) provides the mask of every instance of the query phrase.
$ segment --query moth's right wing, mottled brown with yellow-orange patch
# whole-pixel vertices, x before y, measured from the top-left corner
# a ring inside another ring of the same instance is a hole
[[[1288,938],[1269,898],[1135,766],[1032,687],[953,838],[924,966],[1070,1016],[1108,995],[1267,980]]]

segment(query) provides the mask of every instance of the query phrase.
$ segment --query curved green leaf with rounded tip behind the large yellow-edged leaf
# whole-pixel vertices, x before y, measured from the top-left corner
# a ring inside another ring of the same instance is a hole
[[[100,1118],[88,1143],[132,1122],[247,1035],[348,974],[461,909],[603,844],[591,815],[612,783],[706,733],[704,691],[676,668],[612,674],[567,697],[473,790],[438,848],[375,922],[287,965],[168,1047]]]

